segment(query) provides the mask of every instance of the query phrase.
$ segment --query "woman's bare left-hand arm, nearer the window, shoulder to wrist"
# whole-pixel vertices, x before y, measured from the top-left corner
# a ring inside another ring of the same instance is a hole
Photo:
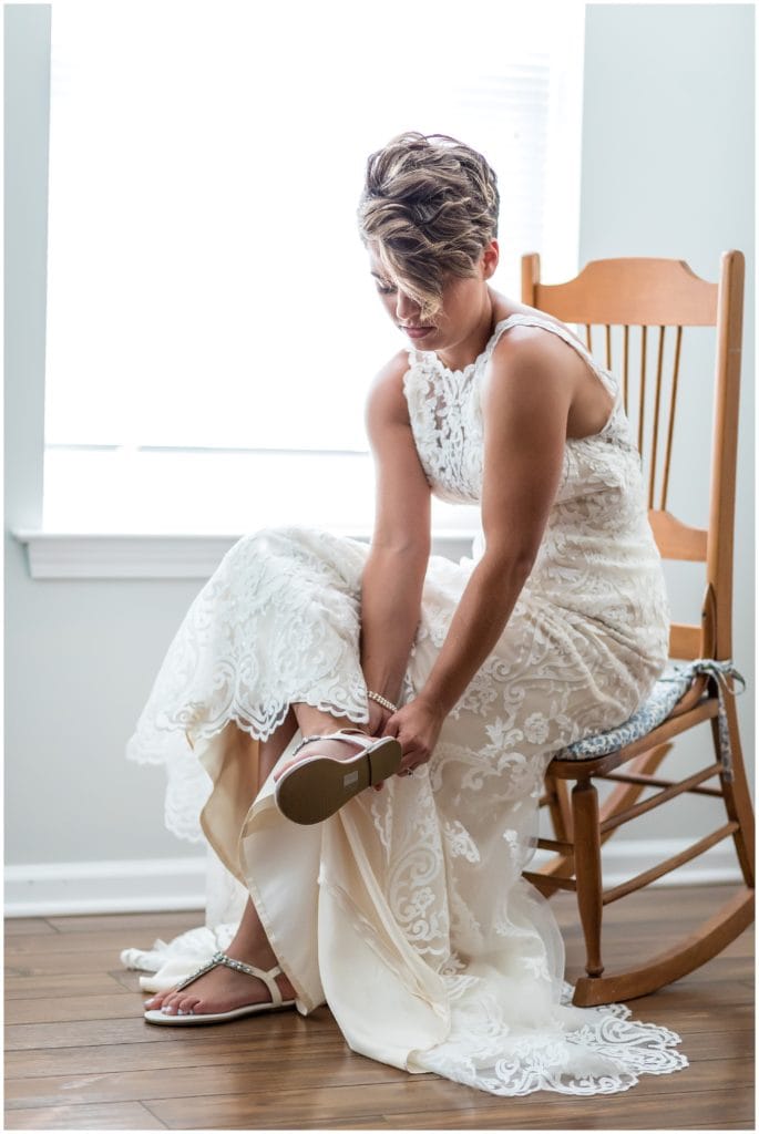
[[[420,618],[430,555],[430,486],[419,463],[403,393],[406,353],[374,379],[366,431],[377,510],[361,591],[361,665],[366,685],[396,702]]]

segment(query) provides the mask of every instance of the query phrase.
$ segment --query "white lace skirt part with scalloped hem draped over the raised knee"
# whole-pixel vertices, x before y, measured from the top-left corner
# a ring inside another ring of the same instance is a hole
[[[369,720],[360,666],[360,583],[368,549],[311,528],[239,540],[179,627],[127,744],[163,764],[166,826],[200,843],[210,782],[191,750],[230,722],[265,741],[290,704]]]

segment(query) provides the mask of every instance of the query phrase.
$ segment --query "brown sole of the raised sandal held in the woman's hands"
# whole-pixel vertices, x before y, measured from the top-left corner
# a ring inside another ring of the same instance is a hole
[[[277,780],[275,801],[294,823],[320,823],[360,792],[397,772],[402,755],[399,743],[388,736],[377,747],[349,760],[302,760]]]

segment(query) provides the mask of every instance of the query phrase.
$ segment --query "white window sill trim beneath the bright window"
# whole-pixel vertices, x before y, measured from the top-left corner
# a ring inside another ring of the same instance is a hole
[[[329,528],[352,539],[369,532]],[[19,530],[14,536],[27,552],[35,579],[65,578],[209,578],[242,533],[116,534]],[[432,551],[458,560],[471,553],[474,531],[436,530]]]

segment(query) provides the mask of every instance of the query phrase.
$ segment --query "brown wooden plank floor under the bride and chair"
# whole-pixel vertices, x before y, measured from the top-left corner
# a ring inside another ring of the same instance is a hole
[[[695,924],[732,888],[640,891],[608,911],[607,966],[660,951],[661,921]],[[570,896],[553,899],[567,976],[582,960]],[[753,937],[634,1001],[682,1035],[690,1067],[622,1094],[498,1099],[351,1052],[327,1008],[179,1031],[142,1019],[119,950],[200,914],[6,923],[7,1129],[753,1129]]]

